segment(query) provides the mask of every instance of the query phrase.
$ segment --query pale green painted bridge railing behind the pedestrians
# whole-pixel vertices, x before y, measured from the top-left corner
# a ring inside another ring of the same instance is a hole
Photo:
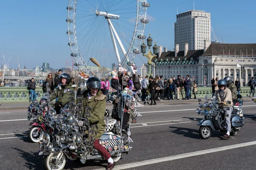
[[[211,87],[198,87],[197,88],[197,98],[204,97],[207,94],[212,93]],[[38,99],[43,95],[43,90],[41,87],[35,89],[39,92]],[[185,95],[185,91],[183,90]],[[250,93],[250,87],[242,87],[240,94],[246,96]],[[192,98],[194,95],[192,94]],[[18,102],[29,102],[29,91],[26,87],[0,87],[0,103],[18,103]]]

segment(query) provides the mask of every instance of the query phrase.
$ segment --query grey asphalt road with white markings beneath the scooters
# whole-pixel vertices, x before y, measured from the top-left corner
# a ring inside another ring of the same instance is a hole
[[[111,111],[111,104],[107,105]],[[133,150],[124,154],[114,170],[254,170],[256,169],[256,105],[244,102],[245,125],[237,136],[224,139],[213,131],[208,140],[200,139],[196,125],[203,116],[195,109],[198,102],[157,102],[140,107],[141,117],[131,128]],[[0,111],[0,169],[41,170],[39,144],[26,135],[26,110]],[[67,161],[64,169],[105,169],[106,161]]]

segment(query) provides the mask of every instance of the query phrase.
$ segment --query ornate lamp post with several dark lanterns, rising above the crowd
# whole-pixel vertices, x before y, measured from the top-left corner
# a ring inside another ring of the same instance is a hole
[[[143,41],[143,44],[140,46],[141,47],[141,52],[143,53],[142,55],[147,57],[147,59],[148,59],[148,76],[149,77],[153,77],[153,74],[152,74],[152,71],[151,71],[152,59],[154,57],[157,57],[154,54],[158,53],[157,42],[155,42],[155,45],[153,46],[153,54],[152,54],[152,52],[150,50],[150,48],[152,46],[152,41],[153,41],[153,39],[150,37],[150,34],[149,34],[149,37],[147,39],[147,44],[148,44],[148,52],[147,53],[146,53],[147,46],[144,44],[144,41]]]

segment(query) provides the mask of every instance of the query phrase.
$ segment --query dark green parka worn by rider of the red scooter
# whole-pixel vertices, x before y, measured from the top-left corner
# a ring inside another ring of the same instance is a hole
[[[68,85],[65,85],[65,88],[61,87],[62,85],[58,85],[58,88],[55,89],[55,93],[51,93],[51,100],[54,100],[58,97],[58,102],[61,102],[61,105],[64,106],[69,103],[70,91],[74,91],[74,85],[70,82]]]

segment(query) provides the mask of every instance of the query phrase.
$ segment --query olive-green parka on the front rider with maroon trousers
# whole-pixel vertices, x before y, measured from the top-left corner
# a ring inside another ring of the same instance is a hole
[[[84,91],[84,107],[89,106],[92,108],[91,116],[88,117],[90,125],[98,125],[98,129],[95,129],[97,132],[95,139],[100,139],[105,131],[105,122],[104,115],[106,109],[106,98],[102,91],[99,91],[95,96],[93,96],[90,100],[88,100],[88,92]],[[83,115],[84,116],[84,115]]]

